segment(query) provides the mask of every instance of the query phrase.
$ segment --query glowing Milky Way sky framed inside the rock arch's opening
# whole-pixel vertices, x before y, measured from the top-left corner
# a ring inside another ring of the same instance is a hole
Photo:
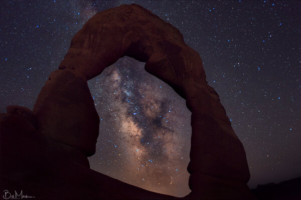
[[[191,113],[185,100],[128,57],[89,87],[101,119],[91,167],[148,190],[189,192]]]

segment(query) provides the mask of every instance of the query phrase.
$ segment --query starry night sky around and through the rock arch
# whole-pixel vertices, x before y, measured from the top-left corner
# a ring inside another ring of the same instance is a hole
[[[301,176],[298,1],[0,2],[0,112],[33,109],[72,37],[97,12],[138,4],[178,28],[202,60],[257,184]],[[190,111],[144,63],[124,57],[88,82],[100,121],[92,169],[161,193],[189,193]]]

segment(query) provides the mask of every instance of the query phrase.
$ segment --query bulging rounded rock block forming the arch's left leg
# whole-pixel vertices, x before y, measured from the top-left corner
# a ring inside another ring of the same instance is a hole
[[[39,131],[55,141],[95,153],[99,117],[87,81],[71,69],[52,72],[34,107]]]

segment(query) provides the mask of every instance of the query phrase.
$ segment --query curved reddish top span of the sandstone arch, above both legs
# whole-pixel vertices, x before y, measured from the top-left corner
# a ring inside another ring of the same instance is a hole
[[[145,70],[172,85],[185,98],[181,84],[205,82],[202,61],[171,24],[138,5],[97,13],[73,37],[59,69],[73,69],[87,80],[119,58],[145,62]]]

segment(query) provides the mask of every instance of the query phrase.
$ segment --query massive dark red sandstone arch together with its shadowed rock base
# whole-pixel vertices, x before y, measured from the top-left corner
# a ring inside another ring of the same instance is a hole
[[[1,189],[26,188],[40,198],[176,198],[89,168],[99,117],[87,81],[123,56],[145,62],[145,70],[186,99],[192,112],[192,192],[184,198],[253,198],[244,148],[206,82],[199,54],[178,29],[138,5],[97,13],[72,39],[33,112],[15,106],[1,115]]]

